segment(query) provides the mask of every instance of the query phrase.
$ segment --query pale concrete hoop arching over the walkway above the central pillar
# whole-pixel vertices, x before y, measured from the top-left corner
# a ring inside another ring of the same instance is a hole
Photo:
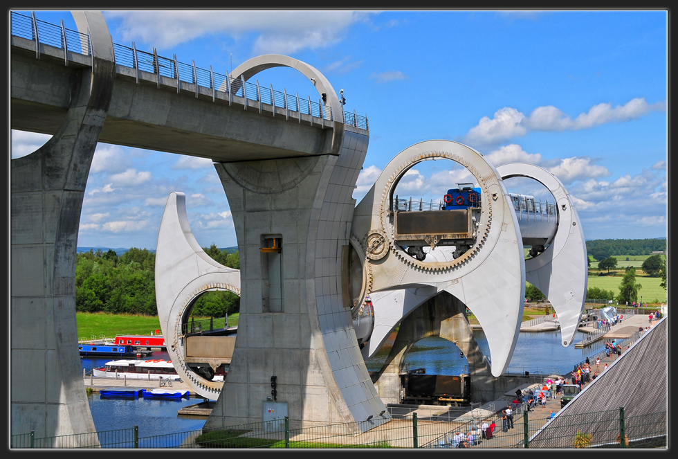
[[[253,57],[237,66],[230,74],[234,80],[238,80],[241,76],[245,81],[248,81],[257,73],[274,67],[289,67],[295,69],[313,82],[313,86],[318,90],[318,95],[322,96],[324,93],[327,96],[327,102],[332,109],[334,132],[332,136],[332,150],[331,154],[339,154],[340,141],[344,138],[344,109],[342,108],[336,91],[325,76],[315,69],[315,67],[306,64],[294,57],[289,57],[282,54],[264,54]],[[226,82],[221,83],[219,91],[226,91]],[[341,115],[341,116],[339,116]]]

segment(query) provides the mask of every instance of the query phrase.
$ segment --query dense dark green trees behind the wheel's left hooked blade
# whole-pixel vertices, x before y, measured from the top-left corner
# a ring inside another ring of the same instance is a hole
[[[224,266],[240,269],[237,251],[228,253],[212,244],[205,253]],[[112,314],[158,315],[155,288],[155,253],[132,247],[116,251],[90,249],[75,261],[75,310]],[[230,291],[208,291],[196,298],[193,316],[224,317],[240,310],[240,297]]]

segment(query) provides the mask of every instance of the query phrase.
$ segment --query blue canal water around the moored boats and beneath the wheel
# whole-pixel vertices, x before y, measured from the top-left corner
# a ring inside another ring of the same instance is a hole
[[[482,330],[476,330],[473,333],[483,354],[489,356],[489,346]],[[578,332],[574,342],[582,341],[582,338],[583,334]],[[385,344],[385,348],[386,346],[390,346],[389,341]],[[376,371],[381,368],[387,357],[387,349],[365,362],[367,370]],[[430,375],[459,375],[461,372],[468,371],[466,359],[460,357],[459,352],[459,348],[446,339],[437,337],[421,339],[412,346],[405,357],[405,366],[412,369],[425,368],[426,373]],[[508,371],[565,374],[571,371],[577,363],[592,355],[592,350],[576,349],[574,345],[563,348],[560,345],[560,332],[522,332],[515,345]],[[152,358],[170,360],[167,352],[154,352]],[[82,368],[89,374],[92,368],[104,366],[104,363],[111,359],[82,358],[81,360]],[[183,406],[190,406],[201,401],[200,397],[175,401],[143,399],[143,397],[102,399],[98,393],[89,396],[89,406],[97,431],[139,426],[140,438],[201,429],[205,424],[205,417],[187,417],[177,414]],[[181,435],[176,435],[176,438],[172,439],[174,442],[182,440]]]

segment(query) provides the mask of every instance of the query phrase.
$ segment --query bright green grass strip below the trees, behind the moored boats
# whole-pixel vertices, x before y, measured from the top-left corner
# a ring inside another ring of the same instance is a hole
[[[238,325],[239,314],[228,316],[228,325]],[[209,318],[209,317],[202,317]],[[196,320],[200,317],[196,317]],[[149,335],[161,330],[158,316],[137,314],[107,314],[105,312],[77,312],[77,339],[115,338],[118,334]]]

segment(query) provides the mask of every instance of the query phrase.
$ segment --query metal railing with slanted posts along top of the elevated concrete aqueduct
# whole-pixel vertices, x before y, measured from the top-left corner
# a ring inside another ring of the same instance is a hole
[[[64,27],[64,21],[61,25],[50,24],[35,18],[35,12],[31,12],[30,16],[22,15],[19,12],[12,11],[12,35],[30,39],[35,42],[36,57],[39,57],[40,44],[54,46],[55,48],[64,51],[64,61],[68,65],[68,53],[78,53],[82,55],[91,55],[91,39],[89,35],[84,35],[77,30],[71,30]],[[210,69],[201,69],[192,61],[191,64],[185,64],[176,60],[176,54],[170,59],[158,55],[155,48],[152,53],[148,51],[140,51],[136,49],[136,45],[132,42],[132,46],[125,46],[121,44],[113,44],[113,59],[116,64],[127,66],[131,69],[136,69],[137,82],[140,71],[154,73],[165,78],[172,78],[178,83],[187,82],[196,85],[196,96],[198,87],[212,89],[212,100],[216,98],[217,93],[229,94],[229,101],[232,101],[232,96],[238,96],[246,100],[254,100],[262,102],[273,107],[286,109],[287,112],[295,112],[299,115],[310,115],[322,120],[334,120],[332,107],[329,107],[322,100],[315,102],[311,100],[311,96],[307,98],[300,98],[298,93],[294,95],[288,94],[285,89],[275,91],[273,84],[268,87],[256,83],[244,81],[244,79],[232,78],[226,72],[226,75],[212,71]],[[275,110],[275,109],[274,109]],[[347,125],[359,127],[360,129],[369,130],[367,116],[360,116],[342,110],[340,117]]]

